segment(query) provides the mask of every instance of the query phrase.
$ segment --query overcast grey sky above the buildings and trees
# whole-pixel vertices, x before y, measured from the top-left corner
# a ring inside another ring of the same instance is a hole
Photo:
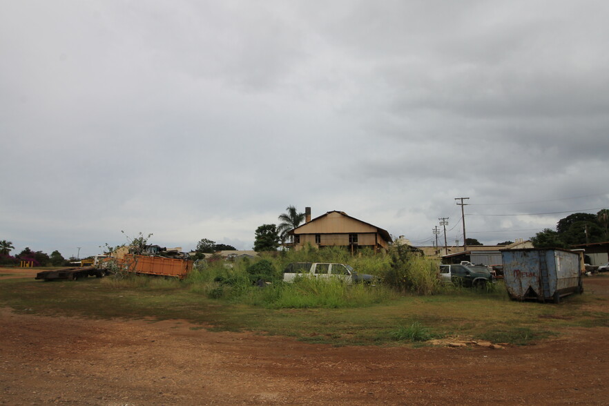
[[[0,240],[251,249],[295,205],[416,245],[447,217],[462,244],[456,197],[468,238],[528,239],[609,208],[608,21],[606,0],[0,0]]]

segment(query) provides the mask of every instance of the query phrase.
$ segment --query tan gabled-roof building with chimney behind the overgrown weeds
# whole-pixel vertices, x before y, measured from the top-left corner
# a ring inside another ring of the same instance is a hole
[[[346,247],[351,253],[369,247],[374,252],[389,248],[391,235],[378,226],[358,220],[344,211],[328,211],[311,220],[311,208],[305,208],[305,224],[289,231],[293,248]]]

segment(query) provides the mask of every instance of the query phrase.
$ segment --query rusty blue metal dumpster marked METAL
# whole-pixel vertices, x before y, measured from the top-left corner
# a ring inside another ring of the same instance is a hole
[[[566,249],[501,250],[503,278],[512,300],[560,302],[582,293],[579,253]]]

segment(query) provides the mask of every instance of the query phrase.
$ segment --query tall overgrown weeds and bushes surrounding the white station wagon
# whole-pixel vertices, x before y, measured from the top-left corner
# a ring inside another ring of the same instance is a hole
[[[291,262],[349,264],[356,272],[378,276],[384,282],[369,287],[331,278],[301,278],[296,283],[286,284],[282,281],[282,271]],[[389,253],[362,250],[356,255],[340,247],[305,247],[301,251],[262,255],[255,260],[214,261],[206,267],[196,267],[182,282],[128,274],[121,278],[106,278],[104,284],[117,289],[184,287],[207,298],[274,309],[347,308],[387,302],[400,293],[437,293],[440,288],[437,273],[437,262],[400,247],[392,248]]]

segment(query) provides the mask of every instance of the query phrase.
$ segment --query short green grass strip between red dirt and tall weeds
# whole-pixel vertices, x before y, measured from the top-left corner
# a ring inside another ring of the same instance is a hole
[[[566,327],[609,327],[609,313],[586,310],[599,303],[586,293],[556,306],[512,302],[502,282],[484,291],[442,287],[431,296],[305,279],[256,287],[244,277],[247,267],[209,267],[184,281],[0,280],[0,306],[46,315],[181,319],[193,329],[255,331],[331,345],[419,345],[441,337],[525,345]]]

